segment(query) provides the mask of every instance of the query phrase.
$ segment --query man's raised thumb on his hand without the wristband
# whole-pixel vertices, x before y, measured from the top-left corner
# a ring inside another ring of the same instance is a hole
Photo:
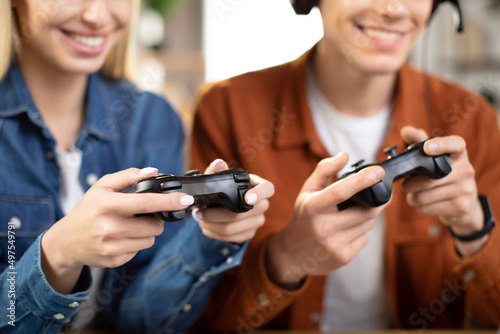
[[[349,154],[341,152],[333,158],[321,160],[314,172],[304,182],[300,192],[315,192],[328,187],[334,176],[345,166],[349,160]]]

